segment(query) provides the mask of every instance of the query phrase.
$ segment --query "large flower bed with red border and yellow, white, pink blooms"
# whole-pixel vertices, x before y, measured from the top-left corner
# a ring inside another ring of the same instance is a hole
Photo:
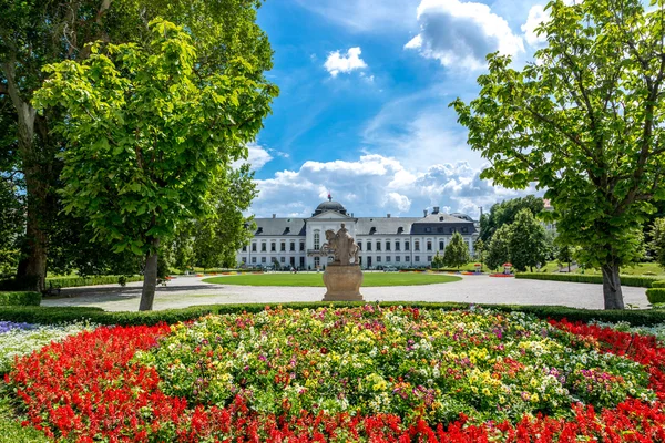
[[[73,441],[665,441],[656,339],[521,312],[270,309],[99,328],[20,359]]]

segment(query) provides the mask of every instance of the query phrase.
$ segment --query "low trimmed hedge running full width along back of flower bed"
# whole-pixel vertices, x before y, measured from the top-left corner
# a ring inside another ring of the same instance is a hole
[[[163,311],[122,311],[109,312],[101,308],[89,307],[69,307],[69,308],[50,308],[50,307],[0,307],[0,320],[52,324],[60,322],[71,322],[76,320],[89,320],[100,324],[156,324],[160,322],[176,323],[196,319],[208,313],[236,313],[236,312],[259,312],[269,307],[282,306],[293,309],[316,309],[319,307],[350,307],[362,306],[361,301],[356,302],[294,302],[294,303],[273,303],[273,305],[206,305],[193,306],[184,309],[168,309]],[[468,309],[471,305],[459,302],[382,302],[386,306],[410,306],[420,309]],[[479,306],[479,305],[477,305]],[[562,319],[566,318],[571,321],[626,321],[633,326],[652,326],[665,322],[665,310],[591,310],[575,309],[562,306],[519,306],[519,305],[480,305],[485,308],[492,308],[502,312],[522,311],[532,313],[542,319]]]

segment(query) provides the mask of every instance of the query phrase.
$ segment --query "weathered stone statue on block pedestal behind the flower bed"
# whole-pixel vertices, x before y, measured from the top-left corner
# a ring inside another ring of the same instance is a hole
[[[324,301],[362,300],[359,250],[344,223],[337,233],[332,229],[326,230],[326,243],[321,245],[320,251],[325,256],[332,254],[335,259],[328,264],[324,272],[327,289]]]

